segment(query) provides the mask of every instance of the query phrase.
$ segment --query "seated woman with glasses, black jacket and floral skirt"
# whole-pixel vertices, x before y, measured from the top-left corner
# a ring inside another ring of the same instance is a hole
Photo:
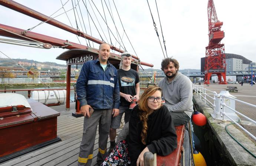
[[[163,104],[161,88],[151,86],[131,112],[129,134],[102,165],[144,166],[145,152],[169,155],[177,147],[173,120]]]

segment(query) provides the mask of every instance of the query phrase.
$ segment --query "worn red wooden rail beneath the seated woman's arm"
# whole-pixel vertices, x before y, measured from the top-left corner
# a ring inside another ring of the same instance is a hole
[[[157,155],[157,166],[178,166],[183,149],[184,125],[176,126],[177,148],[168,156]]]

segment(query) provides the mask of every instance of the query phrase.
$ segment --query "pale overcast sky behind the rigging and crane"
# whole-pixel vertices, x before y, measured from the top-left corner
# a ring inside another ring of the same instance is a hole
[[[50,16],[62,7],[67,0],[45,0],[43,3],[35,0],[15,0],[17,3],[23,4],[33,10],[36,10],[42,14]],[[77,3],[79,0],[73,0],[73,3]],[[129,40],[134,47],[134,50],[129,44],[127,37],[124,34],[124,30],[121,26],[121,22],[116,13],[113,0],[80,0],[77,10],[80,15],[79,7],[81,9],[82,17],[85,23],[86,31],[89,35],[98,39],[101,39],[95,26],[90,18],[90,26],[88,15],[83,2],[86,2],[88,11],[91,14],[93,21],[96,24],[102,38],[110,43],[108,29],[104,23],[98,11],[93,6],[92,1],[96,7],[103,14],[102,3],[106,14],[106,20],[112,33],[117,38],[114,23],[108,13],[108,9],[112,10],[112,15],[115,21],[116,28],[122,37],[124,46],[128,52],[135,55],[137,53],[141,61],[153,64],[155,69],[161,68],[161,61],[164,59],[163,52],[161,50],[158,37],[156,35],[150,10],[148,8],[147,0],[114,0],[117,7],[119,16],[127,33]],[[90,6],[91,3],[92,7]],[[108,9],[105,5],[108,4]],[[161,27],[158,19],[157,8],[154,0],[148,0],[152,11],[152,16],[155,20],[158,33],[160,35],[160,41],[163,45],[163,38],[161,34]],[[168,57],[173,57],[180,63],[180,69],[200,69],[200,58],[205,57],[206,49],[208,45],[208,16],[207,16],[207,0],[157,0],[158,12],[160,15],[161,26],[163,29],[163,35],[167,48]],[[110,5],[109,5],[110,4]],[[256,62],[256,13],[255,13],[255,0],[214,0],[216,13],[218,19],[223,21],[221,30],[224,31],[225,37],[221,41],[225,44],[225,52],[242,55],[243,57]],[[109,7],[110,6],[110,7]],[[72,9],[72,0],[63,6],[68,11]],[[53,17],[64,12],[63,8],[53,15]],[[94,10],[98,21],[93,14]],[[111,12],[111,11],[110,11]],[[70,22],[73,27],[76,28],[76,21],[74,11],[70,10],[66,14],[62,14],[55,19],[61,21],[70,26]],[[0,6],[0,24],[12,26],[20,29],[29,29],[41,21],[35,18],[26,16],[22,13],[16,12],[4,6]],[[80,15],[80,20],[82,22]],[[104,15],[103,15],[104,17]],[[68,19],[69,18],[69,19]],[[76,15],[79,29],[85,32],[81,28],[78,16]],[[70,20],[70,22],[69,22]],[[100,27],[101,26],[101,27]],[[102,28],[102,30],[101,30]],[[60,38],[62,40],[69,40],[74,43],[86,45],[86,40],[82,37],[76,37],[75,34],[66,32],[57,27],[51,26],[47,23],[43,23],[32,30],[35,33],[48,35],[51,37]],[[103,32],[104,33],[103,33]],[[105,35],[104,35],[105,34]],[[111,33],[110,33],[111,34]],[[106,37],[105,37],[106,36]],[[0,36],[0,38],[6,38]],[[115,38],[111,35],[112,43],[116,44]],[[118,38],[119,43],[121,42]],[[87,41],[88,43],[88,41]],[[98,48],[98,44],[91,46]],[[123,48],[121,48],[124,50]],[[11,58],[26,58],[29,60],[35,60],[40,62],[50,61],[58,64],[66,64],[65,61],[56,60],[56,57],[62,52],[67,51],[62,48],[51,48],[49,50],[24,47],[12,44],[0,43],[0,51],[8,55]],[[119,54],[116,51],[113,51]],[[165,55],[166,56],[166,55]],[[0,53],[0,57],[6,58]],[[145,67],[144,68],[148,68]]]

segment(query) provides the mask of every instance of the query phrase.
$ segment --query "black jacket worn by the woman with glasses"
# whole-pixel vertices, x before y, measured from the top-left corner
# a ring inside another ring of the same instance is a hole
[[[169,155],[177,148],[177,135],[173,119],[166,106],[161,106],[148,116],[148,131],[146,145],[141,142],[142,122],[138,116],[140,111],[138,105],[131,112],[129,121],[129,136],[127,139],[131,166],[136,166],[137,159],[143,149],[148,147],[152,153],[157,155]]]

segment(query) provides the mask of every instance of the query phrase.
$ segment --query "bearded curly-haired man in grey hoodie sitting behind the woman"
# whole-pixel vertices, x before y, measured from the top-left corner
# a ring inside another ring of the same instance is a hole
[[[193,113],[193,89],[188,77],[178,72],[179,63],[166,58],[161,63],[165,77],[158,86],[163,91],[165,104],[170,111],[175,126],[186,125]]]

